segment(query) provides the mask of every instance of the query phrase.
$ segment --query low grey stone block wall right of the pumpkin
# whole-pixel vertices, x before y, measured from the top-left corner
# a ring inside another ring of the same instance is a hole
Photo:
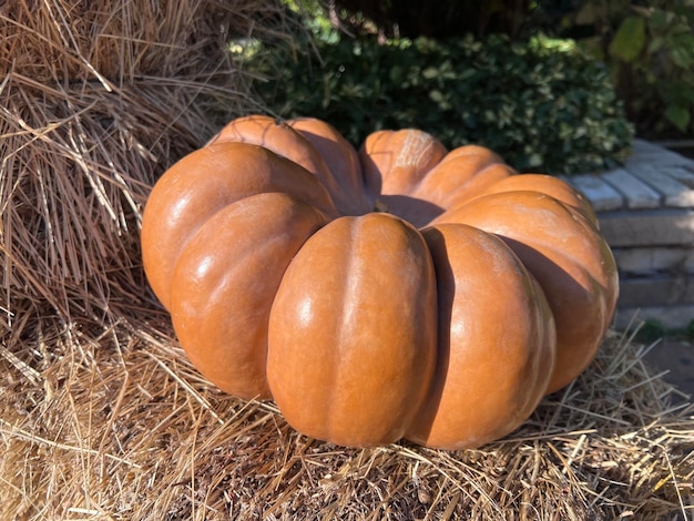
[[[615,326],[694,319],[694,160],[636,140],[626,164],[567,177],[598,212],[620,268]]]

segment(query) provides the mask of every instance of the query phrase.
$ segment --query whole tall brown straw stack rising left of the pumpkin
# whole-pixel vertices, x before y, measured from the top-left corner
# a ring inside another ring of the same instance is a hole
[[[143,203],[174,161],[255,109],[228,35],[277,38],[280,22],[273,0],[2,3],[0,338],[27,314],[100,324],[155,306]]]

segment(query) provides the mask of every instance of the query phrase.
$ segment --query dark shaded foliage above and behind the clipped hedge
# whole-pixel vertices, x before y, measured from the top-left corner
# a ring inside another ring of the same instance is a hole
[[[608,67],[640,134],[694,134],[692,0],[335,0],[334,6],[335,17],[356,33],[370,27],[387,37],[518,39],[542,31],[573,39]]]

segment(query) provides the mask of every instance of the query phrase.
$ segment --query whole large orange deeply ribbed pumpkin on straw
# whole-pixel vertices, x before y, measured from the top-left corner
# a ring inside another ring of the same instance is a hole
[[[232,121],[155,184],[143,263],[197,369],[298,431],[479,447],[591,362],[614,259],[585,198],[417,130]]]

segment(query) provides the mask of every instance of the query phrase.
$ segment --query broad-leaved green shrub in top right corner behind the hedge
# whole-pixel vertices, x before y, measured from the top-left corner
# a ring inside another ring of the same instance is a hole
[[[540,3],[557,12],[550,30],[575,35],[580,45],[606,63],[641,134],[687,137],[694,132],[692,0]]]

